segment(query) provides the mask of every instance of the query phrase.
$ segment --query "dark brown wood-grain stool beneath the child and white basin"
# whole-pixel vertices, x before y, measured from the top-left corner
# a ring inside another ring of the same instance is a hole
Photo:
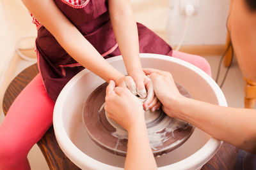
[[[3,98],[3,111],[6,115],[14,99],[19,95],[22,89],[28,85],[28,83],[38,74],[36,64],[29,66],[20,72],[8,86],[4,98]],[[51,127],[38,141],[37,145],[44,154],[45,160],[49,166],[49,169],[79,169],[73,164],[66,155],[62,152],[56,137],[53,127]],[[228,143],[223,143],[220,150],[212,157],[207,164],[205,164],[203,170],[214,169],[234,169],[236,163],[236,155],[238,149]]]

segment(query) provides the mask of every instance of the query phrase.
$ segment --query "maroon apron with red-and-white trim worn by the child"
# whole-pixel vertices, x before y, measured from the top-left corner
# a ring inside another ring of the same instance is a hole
[[[86,0],[78,5],[68,3],[67,0],[54,1],[102,57],[107,59],[121,54],[111,26],[107,0]],[[172,55],[172,47],[168,43],[144,25],[137,26],[141,53]],[[84,67],[68,55],[43,25],[38,29],[36,52],[45,89],[51,99],[56,101],[67,82]]]

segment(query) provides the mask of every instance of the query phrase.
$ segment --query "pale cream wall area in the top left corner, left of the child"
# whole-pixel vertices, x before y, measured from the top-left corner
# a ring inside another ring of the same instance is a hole
[[[15,52],[15,44],[24,36],[36,36],[36,27],[20,0],[0,0],[0,85]]]

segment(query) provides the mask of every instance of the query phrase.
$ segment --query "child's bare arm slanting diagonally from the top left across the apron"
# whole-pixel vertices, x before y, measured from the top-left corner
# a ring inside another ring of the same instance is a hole
[[[63,15],[54,1],[22,0],[31,13],[51,32],[61,46],[77,62],[104,80],[116,80],[123,76],[112,67]],[[40,8],[38,8],[40,6]]]

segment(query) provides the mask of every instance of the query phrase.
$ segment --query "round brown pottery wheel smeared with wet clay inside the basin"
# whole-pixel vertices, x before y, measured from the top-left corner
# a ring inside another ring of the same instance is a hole
[[[103,83],[88,97],[83,109],[83,121],[90,138],[104,150],[126,155],[127,131],[107,117],[104,110],[106,87]],[[180,94],[189,92],[176,83]],[[168,117],[163,110],[145,111],[148,139],[154,156],[168,153],[182,145],[193,133],[194,127],[176,118]],[[140,141],[138,141],[140,142]]]

